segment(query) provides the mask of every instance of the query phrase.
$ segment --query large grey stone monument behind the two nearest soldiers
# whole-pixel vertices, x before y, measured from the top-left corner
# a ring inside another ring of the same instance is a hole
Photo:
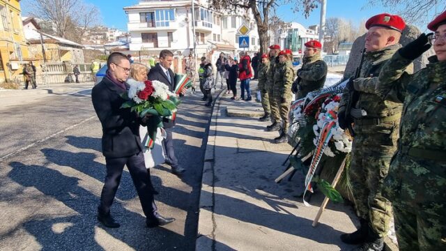
[[[403,33],[401,35],[401,45],[407,45],[415,38],[420,36],[420,34],[421,32],[419,29],[417,29],[417,27],[410,24],[406,25],[406,28],[403,30]],[[356,38],[355,42],[353,43],[350,58],[348,59],[346,70],[344,71],[344,78],[351,77],[355,73],[356,68],[360,65],[361,51],[364,49],[364,43],[365,34],[360,36],[359,38]],[[433,54],[433,49],[431,49],[422,54],[422,56],[420,56],[418,59],[416,59],[413,62],[415,72],[426,67],[426,63],[428,63],[427,58]]]

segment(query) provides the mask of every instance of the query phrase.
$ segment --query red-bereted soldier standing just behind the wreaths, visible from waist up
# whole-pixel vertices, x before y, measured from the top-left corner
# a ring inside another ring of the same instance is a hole
[[[305,43],[305,57],[302,68],[298,70],[296,99],[305,98],[310,91],[323,87],[327,77],[327,64],[321,58],[321,43],[309,40]]]

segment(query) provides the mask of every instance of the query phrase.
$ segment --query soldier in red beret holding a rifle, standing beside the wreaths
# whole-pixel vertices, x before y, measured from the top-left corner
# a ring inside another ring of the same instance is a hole
[[[359,77],[349,82],[352,86],[344,90],[339,103],[339,126],[343,129],[348,127],[346,114],[353,117],[354,122],[348,175],[361,226],[352,234],[342,234],[341,240],[348,244],[361,244],[355,250],[382,250],[383,238],[389,230],[392,206],[380,194],[378,187],[383,183],[390,159],[397,149],[402,105],[380,100],[375,87],[384,63],[401,47],[399,38],[404,26],[401,17],[386,13],[367,20],[365,54]],[[410,73],[411,70],[408,69]],[[353,91],[357,91],[359,98],[351,104],[351,110],[346,111]]]

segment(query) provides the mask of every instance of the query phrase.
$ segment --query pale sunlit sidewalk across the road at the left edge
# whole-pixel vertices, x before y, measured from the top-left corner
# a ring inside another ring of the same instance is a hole
[[[52,95],[63,95],[88,90],[93,88],[93,86],[93,82],[84,82],[49,84],[48,87],[40,84],[37,86],[37,89],[31,89],[31,86],[29,86],[27,90],[0,89],[0,109],[6,109],[13,105],[30,104],[40,98],[46,98]],[[23,88],[23,86],[20,88]]]

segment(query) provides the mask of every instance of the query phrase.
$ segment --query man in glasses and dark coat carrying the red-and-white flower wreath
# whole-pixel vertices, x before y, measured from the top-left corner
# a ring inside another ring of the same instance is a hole
[[[146,125],[152,118],[146,116],[141,119],[135,112],[131,112],[130,108],[121,109],[121,105],[126,101],[121,96],[127,90],[128,84],[125,81],[130,72],[127,56],[114,52],[110,54],[107,66],[107,75],[91,91],[93,107],[102,125],[102,153],[107,167],[98,206],[98,220],[105,227],[120,226],[112,218],[110,207],[118,190],[124,165],[127,165],[146,215],[147,227],[166,225],[175,219],[163,218],[157,213],[151,176],[146,171],[139,137],[139,125]]]

